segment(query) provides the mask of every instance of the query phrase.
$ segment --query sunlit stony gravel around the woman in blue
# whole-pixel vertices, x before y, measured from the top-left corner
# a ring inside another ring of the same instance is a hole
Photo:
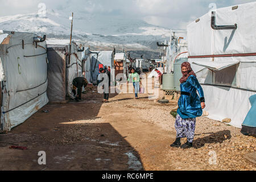
[[[143,122],[176,133],[175,118],[170,114],[177,106],[176,102],[159,104],[145,98],[146,94],[140,97],[142,99],[138,101],[127,100],[124,103],[126,110],[137,112],[144,118]],[[113,102],[109,106],[115,104],[117,103]],[[197,118],[194,147],[181,150],[166,146],[163,149],[166,152],[165,161],[175,170],[255,171],[256,164],[245,159],[245,155],[256,152],[256,138],[242,135],[240,130],[206,117]],[[181,141],[186,142],[185,139]],[[174,141],[170,141],[170,144],[172,142]],[[166,166],[159,166],[157,169],[166,169]]]

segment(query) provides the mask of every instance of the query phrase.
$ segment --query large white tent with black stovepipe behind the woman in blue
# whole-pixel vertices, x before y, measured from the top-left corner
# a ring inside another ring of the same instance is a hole
[[[218,26],[237,28],[214,30],[209,14],[189,24],[188,61],[203,86],[208,117],[230,118],[230,125],[241,128],[256,93],[256,2],[217,9],[215,15]]]

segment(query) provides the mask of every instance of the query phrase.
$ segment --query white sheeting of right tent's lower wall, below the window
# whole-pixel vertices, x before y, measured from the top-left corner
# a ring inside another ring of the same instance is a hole
[[[208,118],[216,121],[230,118],[229,125],[242,128],[242,123],[251,107],[246,98],[250,98],[255,92],[208,85],[202,87],[206,99],[205,110],[209,111]]]

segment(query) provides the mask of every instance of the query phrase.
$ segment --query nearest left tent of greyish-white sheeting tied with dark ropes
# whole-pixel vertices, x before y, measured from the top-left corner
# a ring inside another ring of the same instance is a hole
[[[2,36],[0,130],[10,131],[48,103],[47,53],[44,38],[36,34],[3,31]]]

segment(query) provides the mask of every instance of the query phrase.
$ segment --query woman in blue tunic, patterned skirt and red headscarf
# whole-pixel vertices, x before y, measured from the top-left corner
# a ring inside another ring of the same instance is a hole
[[[181,72],[183,74],[183,77],[180,78],[181,96],[175,122],[177,135],[171,147],[180,147],[180,138],[187,137],[187,143],[183,144],[181,148],[191,148],[195,137],[196,117],[203,114],[205,99],[203,89],[188,62],[181,64]],[[196,91],[199,92],[200,97]]]

